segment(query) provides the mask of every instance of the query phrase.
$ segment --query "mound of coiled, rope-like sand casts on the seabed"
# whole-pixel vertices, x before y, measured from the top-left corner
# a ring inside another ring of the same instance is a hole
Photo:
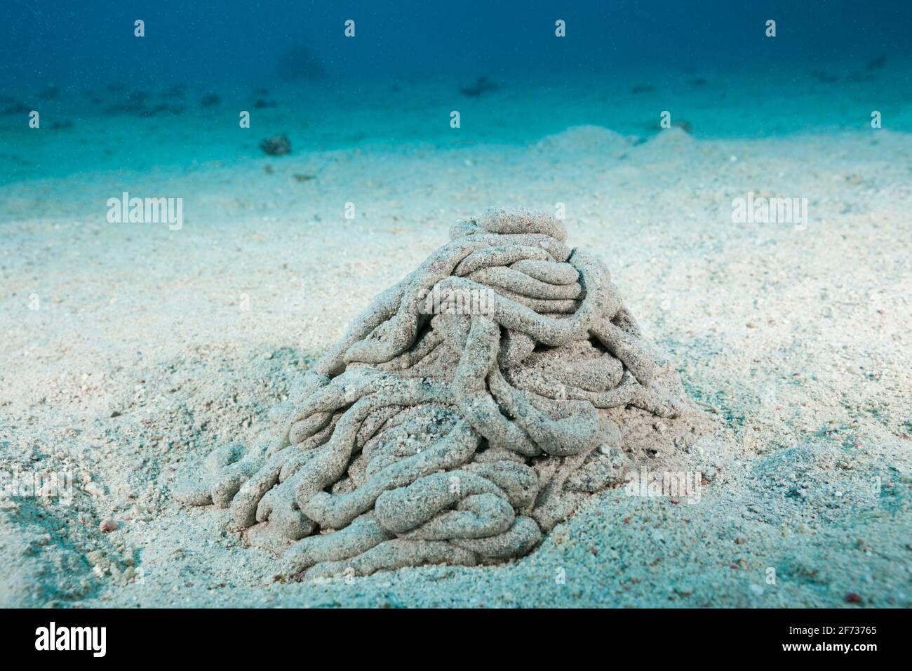
[[[564,225],[490,210],[307,372],[280,434],[174,496],[306,577],[520,557],[598,489],[686,454],[699,413]]]

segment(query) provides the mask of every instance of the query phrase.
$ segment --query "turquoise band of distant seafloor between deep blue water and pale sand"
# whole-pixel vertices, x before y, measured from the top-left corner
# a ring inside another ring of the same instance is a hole
[[[658,72],[658,74],[657,74]],[[866,130],[912,131],[912,67],[901,59],[814,68],[668,68],[577,79],[326,79],[219,89],[156,82],[5,92],[0,183],[78,173],[192,169],[261,159],[259,142],[285,133],[292,152],[384,145],[455,148],[526,144],[578,125],[648,139],[663,112],[698,139],[769,138]],[[39,128],[29,111],[40,112]],[[239,115],[251,115],[241,128]],[[451,126],[453,111],[459,127]]]

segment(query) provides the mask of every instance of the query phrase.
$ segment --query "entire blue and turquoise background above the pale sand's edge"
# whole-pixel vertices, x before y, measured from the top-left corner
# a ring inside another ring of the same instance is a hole
[[[895,131],[912,121],[907,0],[51,0],[4,13],[5,181],[256,155],[234,132],[252,108],[250,135],[314,149],[533,142],[582,123],[644,135],[661,110],[707,138],[861,129],[871,110]],[[467,116],[458,135],[451,110]],[[161,155],[131,163],[150,143]]]

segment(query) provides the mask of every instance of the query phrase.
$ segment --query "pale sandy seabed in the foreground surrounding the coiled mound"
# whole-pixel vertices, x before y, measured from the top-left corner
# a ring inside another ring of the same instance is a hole
[[[888,130],[577,127],[0,186],[0,470],[75,477],[68,505],[0,498],[0,605],[909,606],[910,157]],[[183,198],[181,229],[109,224],[123,191]],[[733,222],[749,192],[807,224]],[[173,500],[453,222],[556,203],[714,418],[699,502],[609,489],[505,566],[289,582]]]

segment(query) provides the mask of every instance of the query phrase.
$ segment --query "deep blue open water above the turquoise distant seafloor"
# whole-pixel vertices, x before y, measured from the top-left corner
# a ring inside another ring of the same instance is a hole
[[[310,47],[333,84],[447,76],[596,78],[623,69],[864,67],[912,55],[908,0],[67,0],[5,3],[2,89],[180,80],[254,86],[288,47]],[[133,37],[133,21],[146,37]],[[352,18],[357,37],[343,36]],[[554,37],[563,18],[567,37]],[[764,37],[767,18],[777,37]]]

